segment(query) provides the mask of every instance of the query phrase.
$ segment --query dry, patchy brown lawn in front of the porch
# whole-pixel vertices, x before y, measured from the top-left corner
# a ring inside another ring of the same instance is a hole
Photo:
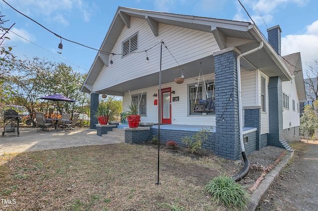
[[[216,210],[203,190],[212,177],[234,175],[242,161],[185,148],[108,144],[0,156],[0,210]],[[274,162],[283,149],[267,147],[250,162]],[[249,189],[261,172],[251,170],[240,184]]]

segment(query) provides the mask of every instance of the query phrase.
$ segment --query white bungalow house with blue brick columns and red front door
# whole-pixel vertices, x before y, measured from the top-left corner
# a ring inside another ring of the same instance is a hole
[[[289,148],[306,101],[301,56],[281,56],[280,27],[267,31],[268,41],[249,22],[118,7],[81,88],[90,127],[106,94],[122,96],[124,110],[140,102],[141,122],[154,123],[142,137],[160,130],[163,142],[181,143],[205,126],[213,131],[203,147],[220,157],[240,158],[240,134],[247,154]]]

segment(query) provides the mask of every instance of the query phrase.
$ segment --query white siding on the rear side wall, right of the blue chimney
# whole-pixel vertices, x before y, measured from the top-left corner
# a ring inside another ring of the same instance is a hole
[[[300,125],[300,117],[298,111],[298,96],[295,80],[282,82],[283,93],[289,96],[289,109],[283,107],[283,129]],[[283,95],[283,93],[281,93]],[[295,101],[295,110],[293,110],[293,100]]]

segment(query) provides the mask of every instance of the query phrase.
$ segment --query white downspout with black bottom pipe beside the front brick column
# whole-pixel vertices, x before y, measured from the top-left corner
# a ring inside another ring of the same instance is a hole
[[[241,180],[242,178],[244,178],[249,169],[250,169],[250,163],[249,160],[246,156],[246,152],[245,152],[245,147],[244,147],[244,141],[243,141],[243,117],[242,117],[242,96],[241,96],[241,83],[240,83],[240,58],[250,54],[250,53],[254,53],[260,49],[263,48],[263,41],[260,41],[259,46],[255,49],[252,49],[248,52],[242,53],[237,57],[237,71],[238,71],[238,92],[239,92],[239,141],[240,141],[240,147],[241,147],[241,152],[242,152],[242,158],[244,160],[244,167],[241,170],[241,172],[239,172],[238,174],[233,176],[233,179],[238,182],[239,180]]]

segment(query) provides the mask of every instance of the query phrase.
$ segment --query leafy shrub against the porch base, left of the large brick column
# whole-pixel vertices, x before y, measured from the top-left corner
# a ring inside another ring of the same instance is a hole
[[[199,132],[195,133],[193,136],[185,136],[181,138],[182,143],[188,146],[191,153],[194,153],[198,149],[202,149],[202,144],[208,139],[208,133],[212,129],[201,128]]]

